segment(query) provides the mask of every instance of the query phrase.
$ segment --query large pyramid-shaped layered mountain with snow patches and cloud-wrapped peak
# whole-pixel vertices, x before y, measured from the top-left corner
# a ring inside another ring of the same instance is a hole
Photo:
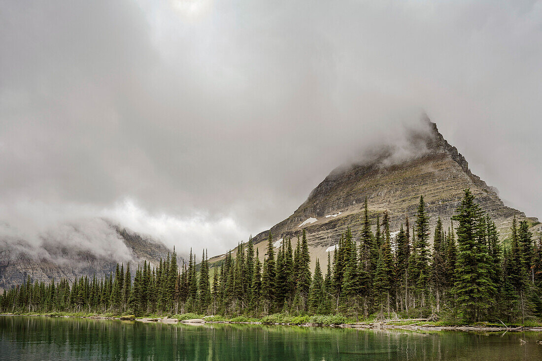
[[[405,222],[405,217],[408,216],[411,224],[415,220],[420,196],[424,197],[431,228],[437,217],[447,227],[467,188],[476,196],[482,210],[493,218],[501,238],[508,234],[513,217],[526,218],[524,212],[507,207],[494,187],[474,175],[462,154],[426,118],[420,128],[408,131],[404,145],[384,146],[366,154],[362,162],[333,170],[291,216],[257,234],[253,241],[263,257],[269,231],[277,247],[278,241],[287,237],[292,238],[295,247],[297,237],[305,229],[314,267],[317,257],[320,263],[327,262],[327,251],[338,243],[347,227],[351,227],[354,239],[359,240],[365,197],[373,227],[377,214],[387,210],[390,231],[394,232]],[[533,230],[541,230],[537,218],[528,220]],[[223,256],[209,261],[220,261]]]

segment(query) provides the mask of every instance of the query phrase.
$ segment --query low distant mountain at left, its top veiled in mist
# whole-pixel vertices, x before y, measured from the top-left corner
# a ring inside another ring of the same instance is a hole
[[[28,276],[49,282],[76,277],[97,278],[115,271],[117,262],[130,262],[132,277],[144,261],[158,265],[172,249],[150,236],[135,233],[101,218],[63,224],[38,240],[0,237],[0,291],[19,285]],[[177,257],[182,262],[181,257]]]

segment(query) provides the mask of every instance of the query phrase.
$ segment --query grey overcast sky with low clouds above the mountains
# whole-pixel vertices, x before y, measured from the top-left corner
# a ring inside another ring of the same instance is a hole
[[[27,237],[102,216],[221,253],[422,111],[542,217],[541,1],[0,0],[0,69]]]

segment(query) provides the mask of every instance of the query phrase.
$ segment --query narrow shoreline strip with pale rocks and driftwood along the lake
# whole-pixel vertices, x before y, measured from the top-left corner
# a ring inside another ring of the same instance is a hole
[[[331,328],[355,328],[364,330],[407,330],[407,331],[464,331],[464,332],[542,332],[542,326],[534,327],[505,327],[505,326],[475,326],[475,325],[462,325],[462,326],[437,326],[431,324],[409,324],[409,325],[395,325],[393,323],[379,323],[379,322],[367,322],[367,323],[354,323],[354,324],[315,324],[315,323],[263,323],[261,321],[206,321],[206,320],[179,320],[177,318],[135,318],[130,316],[106,316],[106,315],[49,315],[49,314],[0,314],[0,316],[22,316],[22,317],[60,317],[60,318],[86,318],[86,319],[102,319],[102,320],[121,320],[121,321],[134,321],[141,323],[162,323],[162,324],[177,324],[184,323],[187,325],[203,325],[203,324],[241,324],[241,325],[277,325],[277,326],[298,326],[298,327],[331,327]],[[397,321],[398,323],[401,320]]]

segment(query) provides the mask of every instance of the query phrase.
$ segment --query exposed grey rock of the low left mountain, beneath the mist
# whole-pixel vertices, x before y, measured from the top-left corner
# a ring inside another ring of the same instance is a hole
[[[38,252],[29,252],[31,248],[24,240],[17,244],[0,240],[0,292],[20,285],[28,276],[33,281],[45,282],[61,278],[72,282],[76,277],[92,278],[94,274],[97,278],[105,277],[115,272],[117,262],[124,262],[125,267],[130,262],[133,277],[138,264],[143,265],[147,261],[156,266],[160,257],[165,259],[172,251],[159,241],[119,225],[106,223],[105,227],[109,227],[111,234],[117,237],[115,241],[124,249],[122,255],[104,255],[95,252],[97,249],[69,247],[57,242],[44,242]],[[117,248],[116,245],[113,247]],[[182,261],[178,257],[178,262]]]

